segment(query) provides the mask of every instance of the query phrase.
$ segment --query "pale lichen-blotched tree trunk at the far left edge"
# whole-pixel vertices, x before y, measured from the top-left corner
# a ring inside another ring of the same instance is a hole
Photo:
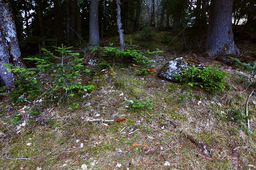
[[[14,77],[3,64],[14,64],[24,67],[20,59],[20,48],[16,35],[16,28],[8,0],[0,1],[0,76],[8,87],[13,86]]]

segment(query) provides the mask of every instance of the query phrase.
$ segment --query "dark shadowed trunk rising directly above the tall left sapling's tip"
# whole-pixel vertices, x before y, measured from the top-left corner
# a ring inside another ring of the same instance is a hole
[[[56,31],[56,39],[57,44],[62,44],[62,10],[60,6],[59,0],[53,0],[54,3],[54,20],[55,20],[55,31]]]

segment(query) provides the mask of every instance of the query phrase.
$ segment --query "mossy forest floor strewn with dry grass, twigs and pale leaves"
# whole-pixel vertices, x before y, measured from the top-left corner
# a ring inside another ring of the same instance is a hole
[[[157,36],[165,34],[169,33]],[[127,35],[126,42],[136,45],[130,41],[132,36]],[[118,38],[101,43],[109,42],[118,44]],[[163,50],[151,59],[157,72],[177,56],[196,57],[181,51],[182,36],[169,42],[143,42],[142,49]],[[198,42],[200,52],[200,38]],[[250,53],[252,46],[245,46],[241,45],[242,52]],[[248,82],[236,75],[241,70],[218,65],[231,76],[225,78],[225,89],[217,93],[169,82],[157,73],[141,77],[134,66],[114,65],[114,74],[102,72],[103,76],[94,77],[98,88],[78,99],[78,108],[72,110],[68,104],[48,101],[47,107],[39,107],[2,98],[0,169],[256,169],[256,94],[248,104],[250,130],[244,116],[251,94],[251,89],[244,91]],[[146,106],[133,107],[126,100]],[[34,119],[31,108],[40,110]]]

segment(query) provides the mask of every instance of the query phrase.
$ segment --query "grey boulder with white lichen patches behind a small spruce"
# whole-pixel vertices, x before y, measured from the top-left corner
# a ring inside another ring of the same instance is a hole
[[[164,67],[159,71],[158,76],[170,81],[178,82],[174,75],[181,75],[182,68],[187,68],[187,66],[195,65],[196,67],[201,66],[196,60],[179,57],[170,60],[164,65]]]

